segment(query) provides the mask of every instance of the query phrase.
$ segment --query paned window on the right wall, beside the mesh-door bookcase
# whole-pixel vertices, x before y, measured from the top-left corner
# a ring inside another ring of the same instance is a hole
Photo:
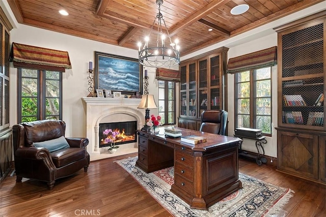
[[[271,67],[235,74],[235,126],[271,135]]]

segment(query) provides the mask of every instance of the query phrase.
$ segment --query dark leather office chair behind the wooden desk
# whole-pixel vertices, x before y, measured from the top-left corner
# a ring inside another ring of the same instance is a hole
[[[204,110],[201,113],[201,125],[199,131],[225,135],[227,121],[228,112],[224,110]]]

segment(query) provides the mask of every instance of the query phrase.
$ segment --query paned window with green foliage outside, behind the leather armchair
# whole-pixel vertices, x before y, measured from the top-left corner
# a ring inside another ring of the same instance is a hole
[[[18,70],[18,122],[62,119],[62,73]]]

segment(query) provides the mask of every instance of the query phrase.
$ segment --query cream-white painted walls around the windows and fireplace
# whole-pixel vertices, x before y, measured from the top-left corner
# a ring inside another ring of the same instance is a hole
[[[268,47],[277,45],[277,34],[273,30],[274,27],[283,25],[296,19],[311,15],[313,13],[326,9],[326,1],[304,9],[300,12],[288,15],[279,20],[273,21],[256,29],[250,30],[247,33],[227,39],[223,42],[216,43],[212,46],[196,51],[194,53],[181,57],[181,60],[191,58],[193,56],[208,52],[210,50],[228,47],[228,58],[239,56],[242,54],[251,53],[262,50]],[[1,1],[0,6],[5,11],[9,20],[13,21],[15,28],[11,30],[11,42],[28,44],[33,46],[45,47],[50,49],[58,49],[69,52],[72,69],[66,70],[63,74],[63,120],[67,123],[66,136],[78,137],[85,135],[85,118],[82,100],[80,98],[88,95],[87,70],[89,60],[94,62],[94,51],[112,53],[132,58],[138,57],[137,50],[122,48],[119,46],[108,45],[96,41],[86,40],[78,37],[64,35],[61,33],[51,32],[40,28],[35,28],[17,23],[7,1]],[[155,69],[148,68],[149,74],[149,93],[154,94],[155,99],[158,99],[157,81],[155,80]],[[16,69],[10,69],[10,126],[17,123],[17,82]],[[228,75],[228,112],[229,112],[229,135],[233,135],[234,126],[234,80],[233,75]],[[277,126],[277,68],[273,67],[273,127]],[[178,101],[177,101],[178,102]],[[158,101],[156,100],[156,103]],[[157,114],[157,110],[151,110],[151,114]],[[144,111],[145,114],[145,111]],[[273,131],[272,137],[267,138],[265,145],[265,154],[268,156],[277,156],[277,141],[276,131]],[[256,151],[254,141],[246,140],[243,143],[243,148],[250,151]]]

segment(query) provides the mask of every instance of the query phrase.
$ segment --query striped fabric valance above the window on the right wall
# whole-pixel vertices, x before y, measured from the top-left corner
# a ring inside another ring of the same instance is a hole
[[[277,47],[270,47],[229,59],[228,73],[234,74],[277,64]]]

